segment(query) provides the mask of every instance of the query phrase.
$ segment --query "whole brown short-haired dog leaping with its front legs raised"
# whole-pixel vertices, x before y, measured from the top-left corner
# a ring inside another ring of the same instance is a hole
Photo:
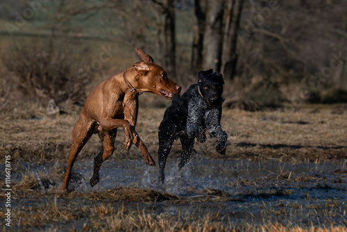
[[[85,100],[81,116],[72,132],[67,171],[60,190],[67,190],[76,157],[93,133],[98,133],[103,149],[94,158],[94,174],[90,185],[99,182],[101,163],[112,155],[119,127],[125,133],[124,148],[128,151],[131,144],[135,144],[146,163],[155,165],[146,145],[135,131],[138,97],[142,92],[152,92],[172,99],[172,94],[178,94],[181,87],[167,78],[164,69],[156,65],[151,56],[140,49],[136,51],[142,61],[122,73],[110,76],[97,85]]]

